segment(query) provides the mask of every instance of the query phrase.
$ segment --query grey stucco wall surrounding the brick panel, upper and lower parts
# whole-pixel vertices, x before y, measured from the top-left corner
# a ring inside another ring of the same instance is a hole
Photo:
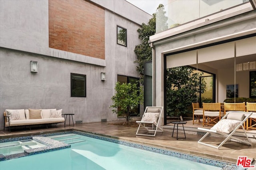
[[[128,13],[138,8],[122,10]],[[0,14],[1,113],[5,109],[56,108],[75,113],[75,120],[84,123],[117,119],[109,108],[117,74],[138,77],[133,63],[134,48],[141,43],[137,22],[147,23],[149,14],[132,21],[105,9],[105,59],[49,48],[48,0],[1,0]],[[127,47],[116,43],[117,25],[127,29]],[[30,61],[38,61],[37,73],[30,72]],[[100,80],[100,72],[106,72],[105,81]],[[86,98],[70,97],[70,73],[86,74]],[[3,129],[3,117],[0,122]]]

